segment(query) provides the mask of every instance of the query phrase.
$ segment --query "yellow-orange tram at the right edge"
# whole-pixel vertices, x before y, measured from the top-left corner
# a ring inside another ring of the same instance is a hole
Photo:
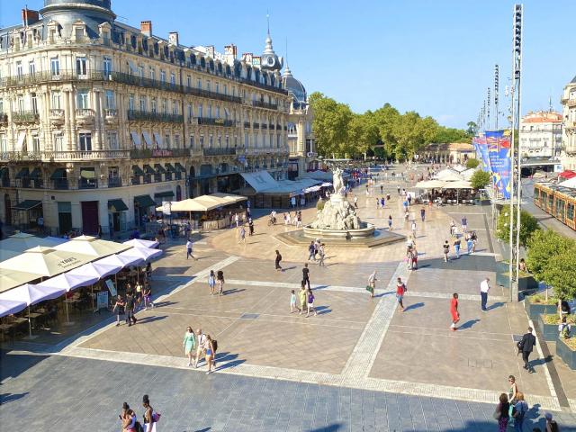
[[[536,183],[534,203],[563,224],[576,229],[576,189],[552,183]]]

